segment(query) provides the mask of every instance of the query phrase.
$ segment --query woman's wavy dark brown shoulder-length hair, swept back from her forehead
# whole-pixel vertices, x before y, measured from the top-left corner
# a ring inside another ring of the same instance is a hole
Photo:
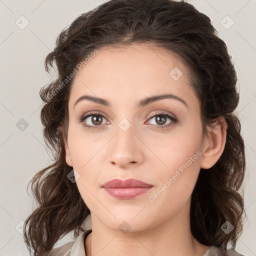
[[[200,169],[192,192],[192,235],[200,243],[219,247],[224,254],[227,243],[235,247],[242,232],[245,210],[238,190],[245,171],[244,141],[234,112],[239,101],[237,77],[226,44],[209,17],[184,1],[110,0],[75,18],[60,32],[54,50],[45,59],[46,71],[56,64],[58,73],[57,79],[40,89],[45,103],[40,113],[43,136],[54,163],[28,183],[38,207],[25,220],[24,239],[34,256],[51,250],[70,231],[74,236],[84,231],[83,221],[90,214],[76,183],[67,178],[72,170],[65,162],[63,142],[73,81],[69,75],[95,49],[131,43],[154,44],[186,63],[200,102],[204,133],[206,125],[212,126],[221,116],[227,122],[223,153],[210,169]],[[234,227],[228,234],[220,228],[225,221]]]

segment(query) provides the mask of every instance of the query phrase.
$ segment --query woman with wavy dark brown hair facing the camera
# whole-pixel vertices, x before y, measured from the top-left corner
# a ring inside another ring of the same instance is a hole
[[[59,34],[54,63],[40,96],[55,162],[31,180],[33,255],[242,255],[239,95],[210,19],[183,1],[110,0]]]

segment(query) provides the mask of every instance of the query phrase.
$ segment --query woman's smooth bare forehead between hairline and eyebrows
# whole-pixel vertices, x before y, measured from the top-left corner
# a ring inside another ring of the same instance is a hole
[[[177,72],[179,79],[173,76]],[[82,94],[119,103],[128,98],[131,104],[146,96],[172,93],[189,101],[195,97],[189,83],[188,67],[165,48],[135,43],[102,47],[75,75],[69,105]]]

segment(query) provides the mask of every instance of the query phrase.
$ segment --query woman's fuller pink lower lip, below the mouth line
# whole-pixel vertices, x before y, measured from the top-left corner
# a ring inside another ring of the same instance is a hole
[[[104,190],[115,198],[132,199],[149,191],[151,187],[104,187]]]

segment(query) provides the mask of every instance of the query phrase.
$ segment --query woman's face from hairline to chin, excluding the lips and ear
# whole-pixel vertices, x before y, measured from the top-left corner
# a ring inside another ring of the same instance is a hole
[[[91,214],[116,230],[187,217],[205,146],[187,67],[167,50],[145,46],[101,48],[74,77],[68,102],[66,162]],[[145,100],[164,94],[173,96]],[[84,95],[108,104],[75,103]],[[117,198],[101,187],[114,178],[151,188]]]

